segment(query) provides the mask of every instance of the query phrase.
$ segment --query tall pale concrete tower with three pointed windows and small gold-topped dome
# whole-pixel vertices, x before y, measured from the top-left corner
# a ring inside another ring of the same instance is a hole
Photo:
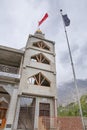
[[[38,128],[39,117],[57,116],[55,43],[45,39],[40,29],[34,35],[29,35],[26,44],[19,94],[17,112],[23,105],[23,100],[28,102],[28,98],[32,99],[31,104],[27,106],[31,106],[32,110],[29,108],[29,113],[33,121],[29,121],[35,130]],[[20,114],[24,110],[22,107],[19,114],[17,113],[17,125],[20,123],[19,118],[24,118]]]

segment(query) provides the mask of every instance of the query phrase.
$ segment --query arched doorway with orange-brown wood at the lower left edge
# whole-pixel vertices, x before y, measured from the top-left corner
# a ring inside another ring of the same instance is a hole
[[[10,103],[10,95],[0,86],[0,129],[3,129],[6,124],[6,116]]]

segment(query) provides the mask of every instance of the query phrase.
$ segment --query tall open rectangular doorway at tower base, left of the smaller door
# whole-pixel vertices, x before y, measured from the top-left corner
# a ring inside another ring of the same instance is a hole
[[[22,95],[20,98],[20,111],[18,118],[18,130],[33,130],[34,129],[34,117],[35,117],[35,103],[36,100],[33,97]]]

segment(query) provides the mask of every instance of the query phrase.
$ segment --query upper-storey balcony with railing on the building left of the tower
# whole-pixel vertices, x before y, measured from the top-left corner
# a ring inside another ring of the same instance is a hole
[[[0,82],[20,81],[19,69],[24,51],[0,45]]]

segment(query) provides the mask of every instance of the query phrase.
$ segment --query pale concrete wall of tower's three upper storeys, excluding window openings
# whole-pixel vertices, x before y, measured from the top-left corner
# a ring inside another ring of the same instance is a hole
[[[50,47],[50,51],[32,46],[34,42],[38,41],[44,41],[45,44],[47,44]],[[51,64],[47,65],[43,63],[32,62],[30,60],[31,56],[38,53],[44,54],[50,60]],[[28,78],[39,72],[41,72],[51,82],[50,87],[31,85],[28,83]],[[55,69],[54,43],[35,37],[30,37],[28,39],[24,55],[23,71],[19,91],[20,93],[28,93],[31,95],[55,97],[56,69]]]

